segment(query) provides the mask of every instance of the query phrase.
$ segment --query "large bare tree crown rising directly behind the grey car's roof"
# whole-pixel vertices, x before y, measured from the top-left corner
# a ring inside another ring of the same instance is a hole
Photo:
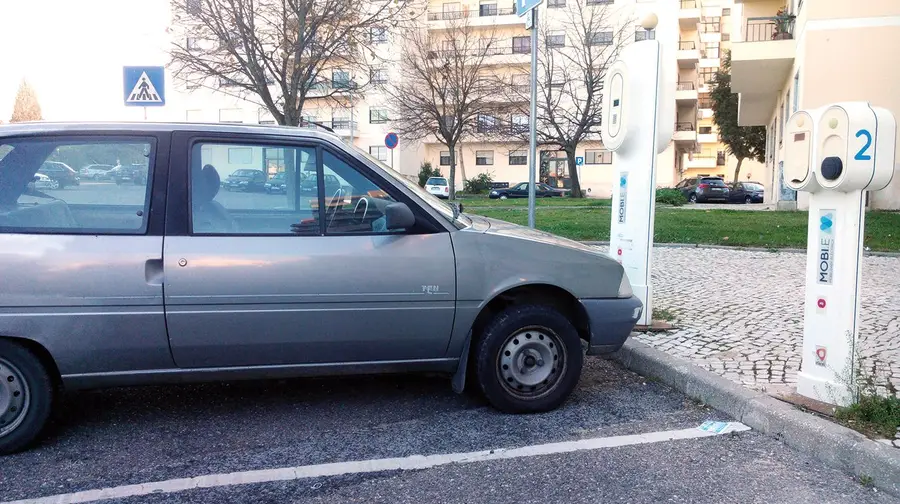
[[[373,43],[404,25],[412,2],[172,0],[171,67],[189,87],[254,101],[296,126],[307,98],[368,86]]]

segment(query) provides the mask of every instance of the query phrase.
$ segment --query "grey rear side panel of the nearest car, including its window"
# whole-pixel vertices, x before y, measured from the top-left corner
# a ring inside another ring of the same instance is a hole
[[[161,184],[167,156],[163,134],[0,134],[0,334],[37,341],[63,375],[173,366],[163,315],[165,186],[15,190],[47,158],[133,159],[158,167]]]

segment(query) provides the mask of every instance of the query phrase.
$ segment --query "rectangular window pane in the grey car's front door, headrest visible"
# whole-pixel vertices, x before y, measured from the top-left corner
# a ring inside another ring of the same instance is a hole
[[[312,147],[195,144],[188,174],[192,233],[320,234],[316,164]],[[267,175],[282,183],[266,183]]]

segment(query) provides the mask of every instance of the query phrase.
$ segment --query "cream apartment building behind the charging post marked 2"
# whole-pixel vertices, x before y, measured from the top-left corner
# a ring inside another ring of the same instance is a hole
[[[900,59],[894,54],[900,47],[900,2],[736,1],[743,11],[732,48],[738,123],[766,127],[773,199],[784,208],[805,208],[808,195],[784,185],[784,125],[796,110],[838,101],[866,100],[900,116]],[[900,177],[871,193],[869,206],[900,209]]]

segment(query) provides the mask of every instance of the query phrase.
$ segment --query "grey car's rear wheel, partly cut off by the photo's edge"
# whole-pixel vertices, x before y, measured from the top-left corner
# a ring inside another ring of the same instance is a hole
[[[17,452],[40,435],[53,407],[53,380],[31,351],[0,340],[0,455]]]

